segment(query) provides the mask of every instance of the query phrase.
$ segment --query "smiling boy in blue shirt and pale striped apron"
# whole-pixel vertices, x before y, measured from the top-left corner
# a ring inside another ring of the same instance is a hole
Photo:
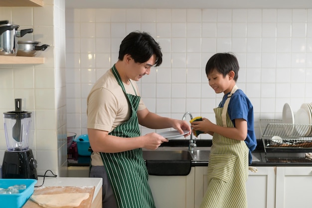
[[[247,208],[245,183],[257,141],[253,106],[236,86],[238,70],[231,53],[217,53],[206,64],[209,85],[224,97],[214,109],[216,124],[206,118],[191,123],[194,131],[213,135],[208,189],[201,208]]]

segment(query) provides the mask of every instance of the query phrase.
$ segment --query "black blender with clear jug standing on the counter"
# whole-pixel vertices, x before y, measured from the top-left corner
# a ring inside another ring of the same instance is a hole
[[[7,150],[2,162],[2,178],[37,180],[37,161],[28,140],[31,112],[22,111],[21,106],[21,99],[15,99],[15,111],[3,113]]]

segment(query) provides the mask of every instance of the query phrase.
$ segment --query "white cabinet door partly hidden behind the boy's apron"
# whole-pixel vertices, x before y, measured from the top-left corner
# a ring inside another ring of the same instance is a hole
[[[275,168],[257,167],[258,172],[249,172],[246,183],[248,208],[274,208],[275,206]],[[207,167],[195,168],[195,208],[207,189]]]

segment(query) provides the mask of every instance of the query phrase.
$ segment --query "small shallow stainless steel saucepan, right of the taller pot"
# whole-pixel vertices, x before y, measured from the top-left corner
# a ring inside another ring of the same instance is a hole
[[[18,41],[18,50],[17,50],[17,56],[36,56],[37,51],[43,51],[49,45],[43,44],[38,46],[40,42],[38,41]]]

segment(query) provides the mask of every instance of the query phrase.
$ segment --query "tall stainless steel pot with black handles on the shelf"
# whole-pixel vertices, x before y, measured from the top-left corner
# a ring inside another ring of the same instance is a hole
[[[33,29],[17,30],[19,25],[9,24],[7,20],[0,21],[0,55],[17,55],[17,37],[22,37]]]

